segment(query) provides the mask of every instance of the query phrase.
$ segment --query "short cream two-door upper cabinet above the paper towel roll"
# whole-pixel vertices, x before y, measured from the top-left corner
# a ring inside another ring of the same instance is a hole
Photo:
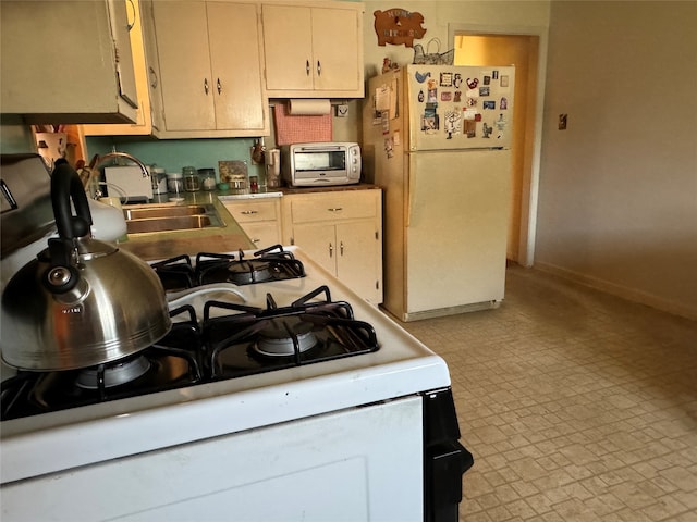
[[[269,97],[363,98],[363,4],[264,4]]]

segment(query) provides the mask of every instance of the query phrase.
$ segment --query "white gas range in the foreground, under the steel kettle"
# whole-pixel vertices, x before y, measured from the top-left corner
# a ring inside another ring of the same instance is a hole
[[[96,388],[76,386],[74,372],[3,377],[2,520],[456,521],[472,456],[457,442],[444,361],[299,249],[284,250],[303,274],[192,296],[197,325],[206,323],[204,302],[223,306],[210,313],[215,327],[194,335],[205,339],[207,355],[236,346],[207,333],[221,330],[228,316],[243,318],[243,330],[254,330],[255,315],[285,324],[295,318],[289,307],[309,294],[299,306],[314,315],[327,301],[347,302],[359,332],[342,333],[347,319],[341,312],[327,320],[331,336],[342,347],[353,345],[345,335],[367,340],[366,347],[305,360],[303,330],[293,355],[281,358],[291,362],[255,373],[249,364],[259,357],[249,350],[256,341],[244,337],[241,365],[234,358],[206,363],[213,361],[208,356],[195,371],[175,362],[163,373],[191,383],[135,396],[121,390],[144,377],[108,389],[105,377]],[[315,291],[320,287],[327,290]],[[188,334],[175,330],[186,332],[186,321],[174,321],[166,340],[179,339],[175,350],[188,350]],[[144,350],[152,362],[145,376],[161,370],[158,351]],[[273,358],[261,359],[267,356]],[[94,400],[101,393],[106,400]],[[20,405],[25,399],[28,407]]]

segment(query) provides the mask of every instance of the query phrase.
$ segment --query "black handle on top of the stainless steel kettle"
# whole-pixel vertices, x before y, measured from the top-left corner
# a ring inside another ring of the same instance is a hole
[[[70,201],[73,200],[76,216],[73,216]],[[91,213],[87,195],[77,172],[64,159],[56,160],[51,174],[51,203],[58,235],[62,239],[82,237],[89,232]]]

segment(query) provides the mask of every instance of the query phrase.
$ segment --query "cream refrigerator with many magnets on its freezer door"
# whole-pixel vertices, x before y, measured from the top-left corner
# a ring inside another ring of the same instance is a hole
[[[368,80],[366,179],[383,189],[383,307],[402,321],[503,300],[513,66],[407,65]]]

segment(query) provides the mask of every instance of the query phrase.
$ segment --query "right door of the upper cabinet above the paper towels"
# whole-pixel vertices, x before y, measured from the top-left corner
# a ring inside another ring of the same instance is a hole
[[[313,9],[313,74],[315,90],[359,88],[359,13],[347,9]],[[363,82],[360,79],[360,82]]]

